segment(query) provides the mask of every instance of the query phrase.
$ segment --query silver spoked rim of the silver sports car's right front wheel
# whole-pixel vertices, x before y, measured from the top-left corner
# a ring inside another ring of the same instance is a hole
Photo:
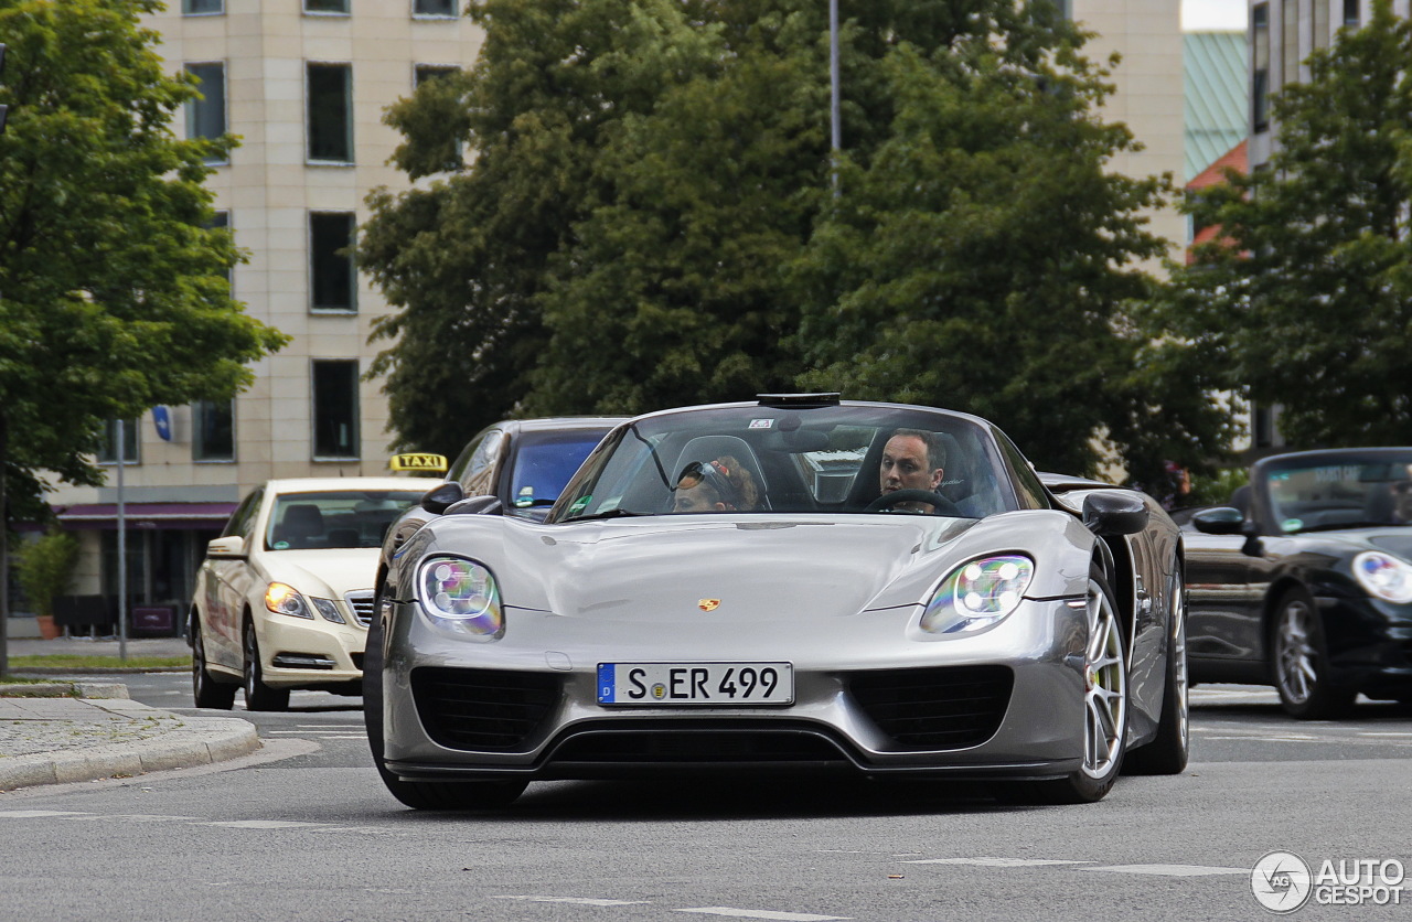
[[[1123,755],[1128,669],[1123,631],[1108,594],[1089,583],[1089,645],[1083,664],[1083,774],[1104,778]]]

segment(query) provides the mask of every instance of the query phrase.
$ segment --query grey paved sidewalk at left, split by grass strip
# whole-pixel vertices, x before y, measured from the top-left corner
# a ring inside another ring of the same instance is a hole
[[[181,638],[128,640],[126,647],[130,658],[189,652]],[[11,659],[42,654],[112,657],[112,668],[86,672],[134,671],[119,658],[116,640],[10,638],[7,652]],[[206,765],[257,748],[260,737],[246,720],[158,710],[130,700],[126,685],[72,671],[44,685],[0,685],[0,792]]]

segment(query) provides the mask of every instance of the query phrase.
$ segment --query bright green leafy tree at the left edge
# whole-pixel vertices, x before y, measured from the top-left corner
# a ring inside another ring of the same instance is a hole
[[[21,501],[44,472],[100,483],[106,421],[230,397],[285,340],[230,297],[240,256],[202,181],[233,140],[172,134],[196,89],[140,24],[158,6],[0,0],[0,490]]]

